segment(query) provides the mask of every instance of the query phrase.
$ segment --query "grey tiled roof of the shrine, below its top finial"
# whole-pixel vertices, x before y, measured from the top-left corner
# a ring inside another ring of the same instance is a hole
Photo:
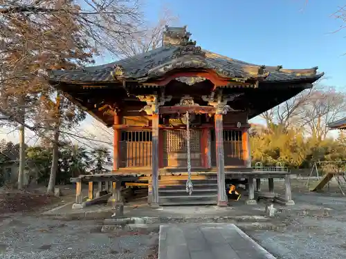
[[[317,68],[284,69],[282,66],[259,66],[231,59],[193,45],[163,46],[110,64],[83,70],[53,70],[51,81],[114,81],[115,79],[147,79],[162,77],[175,68],[210,68],[222,77],[295,81],[322,77]]]

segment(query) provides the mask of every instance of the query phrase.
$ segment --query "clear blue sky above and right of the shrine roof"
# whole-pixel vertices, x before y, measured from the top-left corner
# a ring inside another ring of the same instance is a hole
[[[158,19],[163,6],[187,25],[206,50],[259,65],[318,66],[324,84],[345,84],[346,29],[331,17],[341,0],[147,0],[145,15]]]

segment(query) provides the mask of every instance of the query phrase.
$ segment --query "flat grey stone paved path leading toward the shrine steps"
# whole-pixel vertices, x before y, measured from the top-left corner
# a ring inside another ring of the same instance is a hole
[[[235,224],[161,225],[158,259],[275,259]]]

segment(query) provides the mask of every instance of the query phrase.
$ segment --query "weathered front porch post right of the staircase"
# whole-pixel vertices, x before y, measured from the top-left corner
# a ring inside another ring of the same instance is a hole
[[[225,162],[224,162],[224,122],[222,114],[215,114],[215,142],[217,159],[217,205],[227,206],[226,182],[225,182]]]

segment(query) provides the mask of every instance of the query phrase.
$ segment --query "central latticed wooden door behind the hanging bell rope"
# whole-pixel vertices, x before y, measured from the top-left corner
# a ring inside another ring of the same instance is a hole
[[[201,166],[201,131],[190,130],[191,166]],[[187,167],[186,130],[165,130],[163,133],[163,165]]]

